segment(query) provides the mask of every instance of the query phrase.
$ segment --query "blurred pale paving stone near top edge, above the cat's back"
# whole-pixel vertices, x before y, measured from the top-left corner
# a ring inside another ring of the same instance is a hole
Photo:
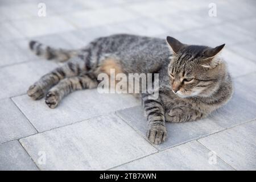
[[[110,23],[118,23],[125,20],[135,19],[136,17],[137,16],[135,16],[130,11],[122,9],[120,7],[77,11],[76,13],[64,16],[65,19],[80,28],[89,28]]]

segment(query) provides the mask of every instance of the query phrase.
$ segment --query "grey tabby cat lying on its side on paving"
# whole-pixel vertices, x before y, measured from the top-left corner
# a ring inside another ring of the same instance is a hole
[[[190,46],[164,39],[118,34],[98,38],[79,50],[55,49],[31,41],[30,49],[48,60],[67,61],[44,75],[27,91],[55,108],[64,96],[98,85],[100,73],[159,73],[159,97],[141,94],[148,121],[147,138],[160,144],[166,140],[165,122],[205,118],[226,104],[233,93],[226,63],[217,54],[225,44],[210,48]]]

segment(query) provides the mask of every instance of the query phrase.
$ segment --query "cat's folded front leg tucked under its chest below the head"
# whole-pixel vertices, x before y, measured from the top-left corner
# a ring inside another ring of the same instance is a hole
[[[166,111],[167,122],[187,122],[195,121],[206,117],[207,114],[198,110],[192,109],[191,106],[176,106]]]

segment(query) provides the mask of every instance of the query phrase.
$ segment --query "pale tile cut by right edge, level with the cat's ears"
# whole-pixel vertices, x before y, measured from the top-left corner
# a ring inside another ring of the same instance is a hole
[[[253,40],[251,40],[253,41]],[[230,49],[232,49],[232,51],[240,54],[243,57],[246,57],[247,59],[250,59],[251,61],[254,61],[254,63],[256,63],[256,52],[255,52],[255,48],[256,48],[256,43],[255,42],[249,42],[249,43],[243,43],[243,44],[237,44],[234,45],[232,47],[230,47]]]

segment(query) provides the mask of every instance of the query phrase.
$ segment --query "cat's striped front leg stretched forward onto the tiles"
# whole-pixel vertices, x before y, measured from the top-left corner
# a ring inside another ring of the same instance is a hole
[[[166,140],[167,130],[162,102],[148,99],[147,94],[142,94],[142,101],[147,117],[147,138],[155,144],[163,143]]]

